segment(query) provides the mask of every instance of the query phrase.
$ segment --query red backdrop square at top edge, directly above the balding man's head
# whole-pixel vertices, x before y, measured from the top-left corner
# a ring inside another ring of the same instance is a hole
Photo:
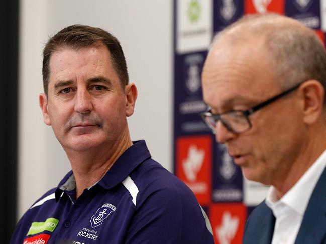
[[[284,0],[245,0],[245,14],[267,12],[284,14]]]

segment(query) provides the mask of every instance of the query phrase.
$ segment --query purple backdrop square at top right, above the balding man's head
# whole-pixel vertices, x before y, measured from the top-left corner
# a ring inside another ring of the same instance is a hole
[[[321,22],[319,0],[285,1],[285,15],[300,21],[307,27],[320,29]]]

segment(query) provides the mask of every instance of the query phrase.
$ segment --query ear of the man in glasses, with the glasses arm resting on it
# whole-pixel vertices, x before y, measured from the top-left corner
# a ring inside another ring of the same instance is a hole
[[[325,90],[319,81],[309,80],[300,86],[299,93],[303,120],[306,124],[313,124],[323,116]]]

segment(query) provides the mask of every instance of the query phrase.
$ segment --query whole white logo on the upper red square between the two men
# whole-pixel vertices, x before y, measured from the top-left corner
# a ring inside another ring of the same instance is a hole
[[[197,148],[194,144],[189,146],[188,156],[182,163],[184,174],[189,181],[197,179],[197,174],[202,167],[204,158],[205,151],[203,149]]]

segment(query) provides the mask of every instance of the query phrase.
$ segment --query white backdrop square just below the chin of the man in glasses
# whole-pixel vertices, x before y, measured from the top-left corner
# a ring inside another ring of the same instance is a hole
[[[247,206],[257,206],[267,196],[269,186],[247,180],[243,177],[244,203]]]

